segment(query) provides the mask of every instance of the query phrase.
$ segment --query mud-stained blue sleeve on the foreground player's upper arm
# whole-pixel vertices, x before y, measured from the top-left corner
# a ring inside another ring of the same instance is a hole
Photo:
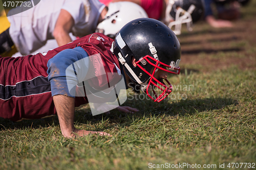
[[[90,59],[82,47],[63,50],[51,58],[47,73],[52,96],[62,94],[74,98],[75,87],[86,77],[89,65]]]

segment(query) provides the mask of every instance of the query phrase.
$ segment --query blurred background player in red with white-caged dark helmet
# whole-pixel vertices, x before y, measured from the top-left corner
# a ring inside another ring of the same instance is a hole
[[[100,0],[106,6],[123,1],[140,5],[149,18],[158,19],[171,29],[174,26],[176,35],[181,34],[183,23],[186,23],[187,29],[191,31],[193,23],[204,15],[203,0]]]

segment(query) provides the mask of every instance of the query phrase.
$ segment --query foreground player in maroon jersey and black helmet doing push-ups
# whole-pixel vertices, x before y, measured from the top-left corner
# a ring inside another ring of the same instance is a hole
[[[167,73],[179,74],[180,56],[172,30],[139,18],[115,40],[94,33],[48,53],[0,57],[0,116],[18,121],[57,114],[65,137],[110,135],[76,129],[75,107],[89,103],[94,115],[112,109],[137,112],[120,106],[126,99],[121,92],[131,84],[160,102],[172,92]]]

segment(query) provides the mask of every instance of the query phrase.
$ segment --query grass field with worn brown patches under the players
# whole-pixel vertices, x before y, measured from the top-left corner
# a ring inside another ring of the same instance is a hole
[[[63,138],[57,116],[0,118],[0,169],[255,169],[255,9],[252,0],[231,29],[200,22],[183,30],[182,73],[169,75],[168,100],[129,96],[135,114],[76,111],[77,128],[112,137]]]

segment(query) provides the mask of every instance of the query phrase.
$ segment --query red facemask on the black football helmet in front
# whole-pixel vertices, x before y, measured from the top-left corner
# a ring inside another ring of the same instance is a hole
[[[148,58],[154,60],[156,63],[152,63],[150,60],[148,60]],[[153,65],[155,68],[153,70],[153,73],[150,74],[150,72],[146,71],[141,65],[141,61],[142,60],[145,60],[146,62],[148,62],[149,64]],[[140,58],[139,61],[137,61],[135,63],[139,68],[141,68],[147,75],[149,75],[151,78],[150,80],[148,81],[148,84],[147,84],[147,88],[146,88],[146,94],[154,101],[154,102],[160,102],[162,101],[164,98],[166,98],[167,95],[169,95],[170,92],[173,91],[173,86],[169,83],[169,81],[167,79],[164,79],[165,82],[167,83],[167,85],[164,83],[164,82],[160,82],[159,80],[157,80],[155,77],[154,77],[154,74],[156,73],[156,71],[158,69],[161,69],[163,71],[166,71],[166,72],[169,72],[171,74],[175,74],[175,75],[179,75],[180,74],[180,67],[174,67],[174,66],[170,66],[170,65],[167,65],[167,64],[164,64],[162,62],[160,62],[159,60],[156,60],[155,58],[151,57],[151,56],[145,56],[145,57],[142,57]],[[170,70],[167,70],[165,68],[162,68],[160,67],[159,65],[162,65],[162,66],[165,66],[167,68],[170,68],[170,69],[173,69],[173,70],[177,70],[176,72],[174,71],[170,71]],[[156,82],[156,83],[155,83]],[[158,85],[159,84],[159,85]],[[159,93],[157,94],[155,89],[153,88],[153,96],[149,93],[151,90],[148,90],[148,88],[150,88],[150,86],[154,86],[154,87],[157,87],[160,91],[162,91],[162,93]]]

